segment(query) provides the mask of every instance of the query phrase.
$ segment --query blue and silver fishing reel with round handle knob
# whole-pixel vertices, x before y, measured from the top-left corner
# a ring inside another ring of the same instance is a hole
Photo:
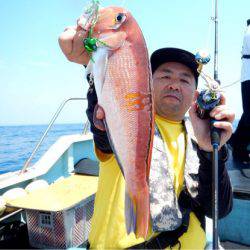
[[[202,68],[210,61],[210,55],[206,51],[199,51],[195,55],[198,63],[197,71],[206,82],[206,89],[202,90],[197,98],[197,115],[201,119],[210,118],[210,111],[220,103],[220,84],[206,75]]]

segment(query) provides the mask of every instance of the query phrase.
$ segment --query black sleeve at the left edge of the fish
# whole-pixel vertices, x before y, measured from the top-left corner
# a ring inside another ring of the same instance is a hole
[[[97,96],[96,96],[96,91],[95,91],[95,87],[93,84],[89,87],[89,90],[87,93],[87,99],[88,99],[88,108],[86,110],[86,113],[87,113],[88,120],[90,122],[90,130],[93,133],[95,145],[103,153],[111,154],[113,153],[113,151],[109,144],[107,133],[105,131],[97,129],[93,122],[94,109],[97,104]]]

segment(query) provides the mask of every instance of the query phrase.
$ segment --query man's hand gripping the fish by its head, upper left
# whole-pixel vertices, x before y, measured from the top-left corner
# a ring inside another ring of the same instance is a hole
[[[87,38],[88,31],[80,26],[80,20],[78,19],[76,26],[67,27],[59,36],[58,42],[69,61],[87,65],[90,58],[84,48],[83,40]]]

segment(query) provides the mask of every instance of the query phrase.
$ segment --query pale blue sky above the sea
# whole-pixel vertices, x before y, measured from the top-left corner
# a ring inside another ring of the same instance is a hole
[[[86,0],[0,0],[0,125],[48,124],[70,97],[86,97],[84,67],[67,61],[58,36],[76,23]],[[100,0],[124,6],[137,20],[149,54],[161,47],[207,49],[213,76],[213,0]],[[218,0],[219,79],[240,79],[241,48],[250,0]],[[200,82],[202,87],[202,82]],[[240,83],[225,88],[227,104],[242,113]],[[68,103],[57,123],[86,121],[86,102]]]

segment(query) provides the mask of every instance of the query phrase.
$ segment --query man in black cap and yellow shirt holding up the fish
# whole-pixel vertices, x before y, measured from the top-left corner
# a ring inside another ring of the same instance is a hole
[[[82,31],[70,28],[60,36],[60,46],[69,60],[86,63],[82,56],[84,49],[79,42],[85,35]],[[203,249],[206,244],[205,216],[212,216],[212,146],[209,122],[196,115],[198,65],[193,54],[174,48],[155,51],[151,56],[151,65],[157,127],[154,141],[159,142],[162,152],[154,159],[156,153],[153,151],[151,170],[162,171],[164,175],[162,178],[155,178],[150,174],[152,220],[146,241],[136,239],[134,233],[126,233],[124,178],[101,122],[105,114],[96,106],[94,86],[91,85],[88,91],[87,115],[100,160],[98,191],[89,235],[91,248],[175,246],[182,249]],[[184,117],[189,108],[192,125]],[[223,97],[221,105],[212,110],[210,115],[218,120],[215,126],[222,129],[219,151],[221,218],[232,207],[232,190],[225,169],[227,149],[224,144],[232,134],[234,114],[226,107]],[[161,161],[159,169],[155,169],[154,160]],[[167,197],[163,203],[157,200],[159,193]],[[159,206],[163,213],[157,212]]]

